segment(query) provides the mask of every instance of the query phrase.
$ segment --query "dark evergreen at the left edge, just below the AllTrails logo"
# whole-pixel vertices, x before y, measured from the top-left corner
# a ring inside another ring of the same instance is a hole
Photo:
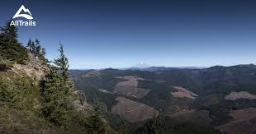
[[[0,55],[3,58],[17,63],[23,63],[27,59],[27,50],[17,41],[17,27],[7,25],[0,28]]]

